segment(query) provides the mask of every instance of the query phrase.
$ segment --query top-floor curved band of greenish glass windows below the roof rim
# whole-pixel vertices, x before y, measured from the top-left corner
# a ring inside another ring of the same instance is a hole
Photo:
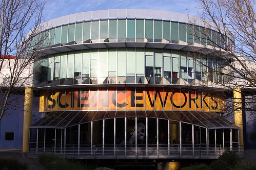
[[[72,23],[70,25],[49,29],[40,34],[45,35],[44,46],[89,42],[162,42],[169,43],[194,42],[203,45],[213,45],[231,48],[233,41],[227,36],[221,36],[213,30],[200,26],[188,25],[184,22],[174,22],[157,19],[109,19]],[[208,36],[208,38],[206,38]],[[207,41],[207,39],[211,41]],[[38,39],[34,38],[34,41]],[[226,42],[225,42],[226,41]]]

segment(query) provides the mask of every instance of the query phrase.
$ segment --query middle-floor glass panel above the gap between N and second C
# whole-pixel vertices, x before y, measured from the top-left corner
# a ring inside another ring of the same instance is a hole
[[[108,76],[116,76],[116,48],[109,48],[108,54]]]

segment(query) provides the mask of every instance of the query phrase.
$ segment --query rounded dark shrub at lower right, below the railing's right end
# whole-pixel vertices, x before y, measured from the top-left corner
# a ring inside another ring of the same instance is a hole
[[[224,152],[220,157],[219,160],[222,160],[223,162],[226,162],[229,167],[233,168],[238,162],[239,157],[235,152]]]

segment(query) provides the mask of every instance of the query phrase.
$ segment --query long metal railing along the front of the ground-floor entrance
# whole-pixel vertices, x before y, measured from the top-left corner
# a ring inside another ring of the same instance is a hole
[[[215,159],[232,151],[243,156],[243,145],[232,146],[206,144],[171,145],[36,145],[30,143],[31,157],[53,153],[74,159]]]

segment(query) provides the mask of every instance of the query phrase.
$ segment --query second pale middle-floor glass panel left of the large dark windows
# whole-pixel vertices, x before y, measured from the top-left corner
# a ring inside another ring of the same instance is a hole
[[[135,48],[127,48],[127,76],[134,76],[136,71]]]

